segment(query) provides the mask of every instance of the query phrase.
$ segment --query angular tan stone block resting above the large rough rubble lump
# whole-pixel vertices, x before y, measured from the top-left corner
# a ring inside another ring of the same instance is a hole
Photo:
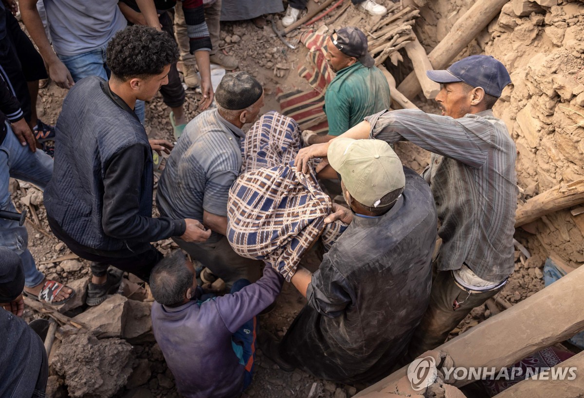
[[[128,299],[114,294],[98,306],[91,307],[74,317],[84,323],[98,338],[123,337],[126,326]]]

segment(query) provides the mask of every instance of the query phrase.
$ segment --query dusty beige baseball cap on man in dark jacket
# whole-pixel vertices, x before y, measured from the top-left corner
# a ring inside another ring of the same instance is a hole
[[[401,160],[381,139],[336,138],[327,157],[347,191],[366,206],[377,207],[386,194],[405,187]]]

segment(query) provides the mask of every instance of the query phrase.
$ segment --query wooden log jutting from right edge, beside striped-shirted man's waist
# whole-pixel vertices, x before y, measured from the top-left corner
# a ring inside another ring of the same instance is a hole
[[[561,184],[526,201],[517,208],[515,228],[546,214],[584,203],[584,179]]]

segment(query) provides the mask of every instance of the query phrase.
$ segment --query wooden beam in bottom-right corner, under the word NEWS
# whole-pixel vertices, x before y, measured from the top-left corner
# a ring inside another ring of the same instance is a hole
[[[561,368],[561,369],[558,369]],[[569,372],[572,368],[575,378]],[[552,375],[564,373],[565,378],[552,378]],[[580,369],[584,369],[584,351],[572,358],[566,359],[561,364],[554,366],[549,371],[546,371],[547,379],[527,379],[510,386],[495,398],[512,398],[512,397],[546,397],[546,398],[564,398],[564,397],[581,397],[584,391],[584,378],[580,375]],[[543,377],[540,375],[540,377]],[[570,377],[570,378],[568,378]]]

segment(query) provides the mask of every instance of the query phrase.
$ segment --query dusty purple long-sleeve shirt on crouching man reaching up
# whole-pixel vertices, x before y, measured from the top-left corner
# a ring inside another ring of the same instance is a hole
[[[154,336],[183,396],[239,396],[244,366],[231,337],[276,299],[283,281],[265,267],[262,278],[234,294],[176,308],[152,305]]]

